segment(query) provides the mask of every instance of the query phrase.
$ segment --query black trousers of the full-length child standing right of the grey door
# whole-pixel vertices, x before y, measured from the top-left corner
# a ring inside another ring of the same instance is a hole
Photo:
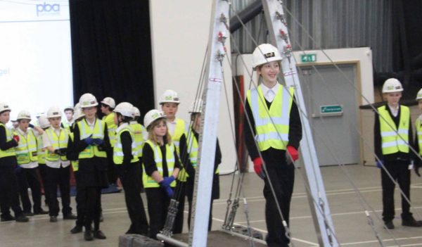
[[[410,170],[409,160],[395,160],[384,162],[385,169],[388,170],[392,179],[397,181],[400,189],[410,201]],[[390,221],[394,219],[394,190],[395,183],[388,176],[384,169],[381,169],[381,184],[383,186],[383,220]],[[410,204],[402,195],[402,219],[407,220],[411,217]]]

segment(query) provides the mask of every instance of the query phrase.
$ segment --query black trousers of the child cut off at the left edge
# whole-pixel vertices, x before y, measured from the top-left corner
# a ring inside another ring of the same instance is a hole
[[[22,208],[20,208],[18,179],[16,178],[14,170],[15,167],[13,165],[0,166],[1,217],[10,216],[10,208],[12,208],[15,216],[22,215],[23,213]]]

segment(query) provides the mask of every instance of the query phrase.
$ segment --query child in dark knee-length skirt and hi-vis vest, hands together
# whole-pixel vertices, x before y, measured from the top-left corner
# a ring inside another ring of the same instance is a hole
[[[100,230],[100,215],[101,189],[108,187],[107,151],[111,147],[107,124],[96,118],[98,101],[94,95],[83,94],[79,104],[85,117],[73,129],[73,146],[79,160],[77,186],[84,189],[86,195],[82,198],[85,207],[84,239],[106,239]],[[91,229],[92,222],[94,230]]]

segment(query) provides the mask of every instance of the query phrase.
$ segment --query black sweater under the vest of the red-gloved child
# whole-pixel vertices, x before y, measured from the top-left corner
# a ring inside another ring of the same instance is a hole
[[[268,108],[271,106],[271,103],[265,100],[267,103]],[[274,102],[274,101],[273,101]],[[257,146],[255,145],[255,120],[252,115],[252,110],[250,109],[250,105],[248,99],[245,101],[245,108],[246,108],[246,115],[243,120],[243,129],[245,133],[245,144],[246,148],[248,148],[249,156],[252,160],[259,157]],[[250,125],[248,122],[248,116],[250,120]],[[288,146],[293,146],[294,148],[298,149],[300,140],[302,139],[302,122],[300,121],[300,115],[298,106],[295,103],[295,99],[293,99],[292,107],[290,110],[290,120],[289,120],[289,132],[288,132]],[[280,151],[275,148],[269,148],[266,151],[262,151],[262,155],[267,158],[273,157],[271,161],[277,162],[280,159]],[[283,154],[281,154],[283,155]],[[281,156],[284,157],[284,156]],[[268,162],[269,160],[267,160]]]

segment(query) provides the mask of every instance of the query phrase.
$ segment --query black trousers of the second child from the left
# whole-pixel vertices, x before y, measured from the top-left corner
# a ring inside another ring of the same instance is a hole
[[[34,213],[41,211],[41,184],[39,183],[37,170],[38,167],[21,168],[16,172],[19,184],[20,201],[22,201],[23,211],[27,213],[32,211],[28,188],[31,189],[32,193]]]

